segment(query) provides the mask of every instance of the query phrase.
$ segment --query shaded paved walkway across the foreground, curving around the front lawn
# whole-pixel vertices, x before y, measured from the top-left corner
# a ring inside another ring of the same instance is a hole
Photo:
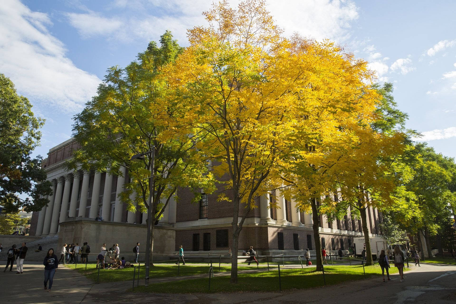
[[[408,304],[455,303],[456,266],[421,264],[405,274],[405,282],[392,275],[392,281],[383,283],[373,278],[339,285],[283,293],[235,294],[150,294],[126,293],[132,282],[93,284],[83,275],[69,268],[59,268],[54,277],[53,291],[43,289],[43,268],[27,264],[24,273],[0,272],[0,294],[3,303],[150,303],[166,304],[241,304],[241,303],[391,303]],[[288,265],[290,267],[290,265]],[[299,265],[301,267],[301,265]],[[288,267],[286,267],[288,268]],[[215,273],[215,276],[222,275]],[[178,280],[161,278],[157,281]],[[144,284],[144,280],[140,283]]]

